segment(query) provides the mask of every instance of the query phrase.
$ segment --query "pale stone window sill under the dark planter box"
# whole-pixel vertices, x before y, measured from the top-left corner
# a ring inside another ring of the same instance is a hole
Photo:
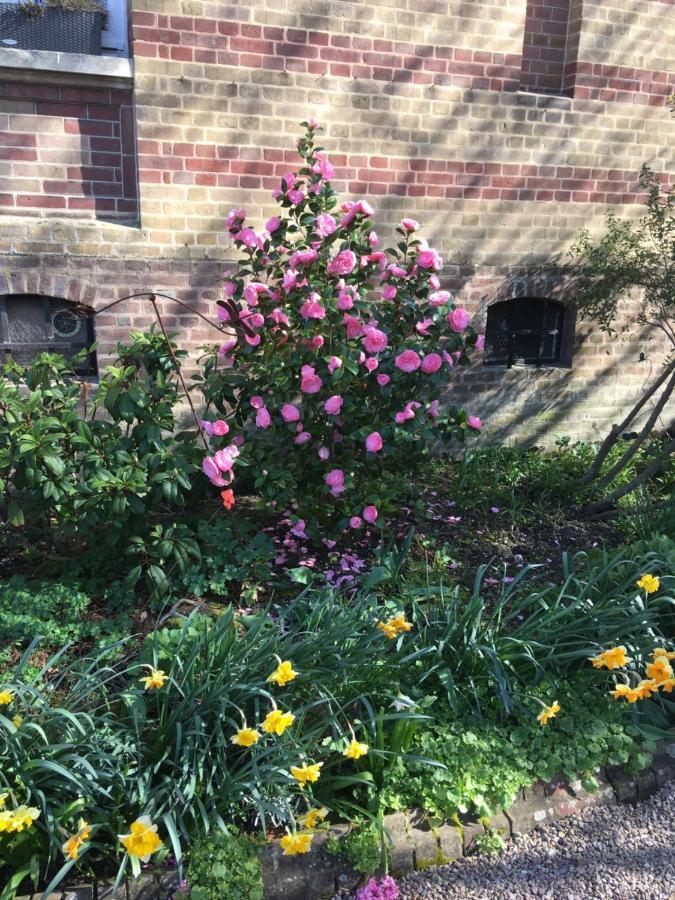
[[[0,47],[0,77],[14,81],[111,84],[128,87],[134,69],[121,56],[57,53],[53,50],[18,50]]]

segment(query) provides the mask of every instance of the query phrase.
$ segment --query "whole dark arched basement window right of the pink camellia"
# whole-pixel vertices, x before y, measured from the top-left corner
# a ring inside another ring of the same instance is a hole
[[[512,297],[488,307],[486,365],[569,366],[574,314],[545,297]]]

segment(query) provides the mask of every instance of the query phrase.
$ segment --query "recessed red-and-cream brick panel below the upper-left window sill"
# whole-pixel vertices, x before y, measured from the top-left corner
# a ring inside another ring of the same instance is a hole
[[[0,211],[138,217],[131,91],[0,84]]]

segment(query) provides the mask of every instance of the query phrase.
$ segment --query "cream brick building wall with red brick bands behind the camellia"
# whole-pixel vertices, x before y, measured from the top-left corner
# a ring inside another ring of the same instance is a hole
[[[643,162],[675,177],[675,0],[129,0],[126,14],[128,58],[0,35],[0,318],[3,298],[100,309],[150,288],[212,313],[227,211],[273,213],[310,115],[338,189],[371,200],[381,233],[420,220],[481,327],[511,298],[569,295],[573,236],[609,207],[640,214]],[[178,304],[164,312],[184,346],[213,340]],[[98,316],[99,365],[152,320],[139,299]],[[602,435],[663,347],[565,329],[567,357],[478,365],[454,396],[507,439]]]

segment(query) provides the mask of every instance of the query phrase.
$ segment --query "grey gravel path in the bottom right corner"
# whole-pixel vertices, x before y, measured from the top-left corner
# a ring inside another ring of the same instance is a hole
[[[468,857],[409,875],[400,900],[671,900],[675,782],[637,806],[587,809]]]

